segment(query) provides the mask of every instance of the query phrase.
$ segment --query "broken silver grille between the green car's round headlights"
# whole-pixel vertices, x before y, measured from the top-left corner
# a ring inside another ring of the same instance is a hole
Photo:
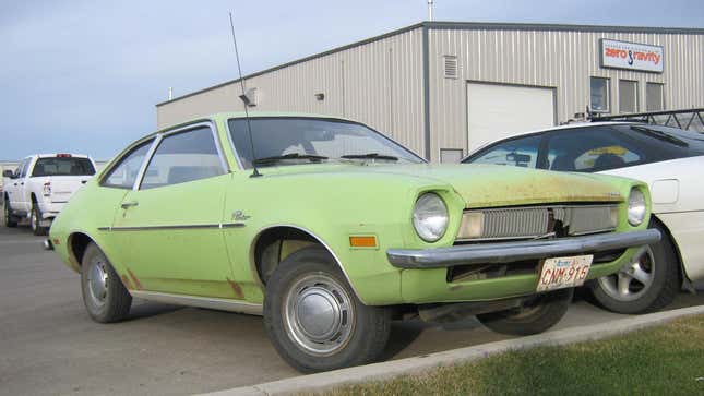
[[[554,205],[465,211],[457,240],[527,239],[612,231],[617,205]]]

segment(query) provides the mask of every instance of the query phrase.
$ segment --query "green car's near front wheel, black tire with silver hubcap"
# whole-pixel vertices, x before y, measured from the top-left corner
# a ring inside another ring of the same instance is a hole
[[[331,309],[324,313],[313,310],[314,314],[307,311],[321,307],[321,301]],[[330,312],[341,312],[339,321]],[[264,326],[286,362],[312,373],[377,360],[389,340],[391,312],[361,303],[330,253],[311,247],[286,257],[269,279]],[[327,333],[320,335],[322,340],[314,340],[306,336],[313,333],[307,333],[309,329]]]

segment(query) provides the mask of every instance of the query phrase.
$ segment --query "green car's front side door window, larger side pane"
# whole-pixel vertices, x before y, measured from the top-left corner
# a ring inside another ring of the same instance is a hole
[[[208,127],[167,135],[154,152],[140,189],[186,183],[225,173]]]

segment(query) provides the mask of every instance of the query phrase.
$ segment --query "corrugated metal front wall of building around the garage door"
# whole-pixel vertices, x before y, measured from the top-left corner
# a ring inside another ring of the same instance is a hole
[[[599,67],[599,38],[659,45],[663,74]],[[429,32],[431,155],[440,148],[467,149],[467,81],[557,87],[557,122],[589,104],[589,76],[611,79],[612,112],[618,80],[639,82],[639,109],[645,111],[645,83],[665,84],[668,109],[704,106],[704,36],[688,34],[574,31],[440,29]],[[460,79],[444,79],[443,56],[456,56]]]

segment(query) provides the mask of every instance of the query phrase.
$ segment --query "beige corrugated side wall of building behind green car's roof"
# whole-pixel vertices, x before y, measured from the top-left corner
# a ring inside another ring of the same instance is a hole
[[[359,120],[422,155],[422,29],[248,79],[252,111],[300,111]],[[325,94],[320,101],[315,94]],[[232,83],[157,107],[159,128],[219,111],[243,110]]]

